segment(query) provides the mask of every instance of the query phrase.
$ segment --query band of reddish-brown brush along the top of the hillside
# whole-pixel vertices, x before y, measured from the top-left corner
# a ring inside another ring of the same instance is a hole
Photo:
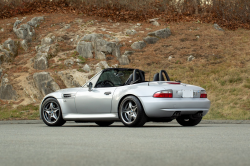
[[[213,23],[229,29],[250,28],[249,0],[0,0],[0,18],[32,13],[74,13],[113,21]]]

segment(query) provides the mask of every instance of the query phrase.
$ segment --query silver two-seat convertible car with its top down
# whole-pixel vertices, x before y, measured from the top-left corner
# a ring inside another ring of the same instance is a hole
[[[62,126],[66,121],[109,126],[121,121],[125,126],[139,127],[149,121],[173,119],[182,126],[195,126],[209,108],[203,88],[170,81],[165,70],[156,73],[153,81],[145,81],[141,70],[108,68],[82,87],[48,94],[39,112],[48,126]]]

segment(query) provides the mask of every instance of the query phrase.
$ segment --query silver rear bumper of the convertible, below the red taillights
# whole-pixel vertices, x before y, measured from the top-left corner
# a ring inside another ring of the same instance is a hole
[[[150,118],[163,118],[173,116],[175,111],[181,115],[195,114],[203,111],[206,115],[210,108],[210,101],[204,98],[139,98],[146,115]]]

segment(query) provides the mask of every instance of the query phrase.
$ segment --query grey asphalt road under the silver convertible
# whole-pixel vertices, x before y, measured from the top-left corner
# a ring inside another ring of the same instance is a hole
[[[0,124],[0,166],[249,166],[250,124]]]

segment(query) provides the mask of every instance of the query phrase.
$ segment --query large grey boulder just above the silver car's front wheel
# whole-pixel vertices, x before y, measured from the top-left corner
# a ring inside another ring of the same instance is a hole
[[[33,79],[36,88],[39,89],[43,96],[60,89],[48,72],[35,73]]]

